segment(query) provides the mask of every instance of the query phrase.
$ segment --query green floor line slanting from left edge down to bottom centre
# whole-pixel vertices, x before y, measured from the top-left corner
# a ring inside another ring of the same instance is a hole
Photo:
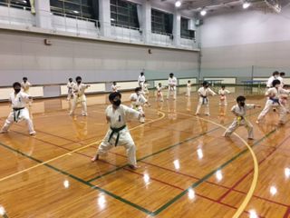
[[[40,160],[38,160],[38,159],[36,159],[36,158],[34,158],[34,157],[28,155],[28,154],[24,154],[24,153],[22,153],[22,152],[20,152],[20,151],[18,151],[18,150],[16,150],[16,149],[14,149],[14,148],[12,148],[12,147],[6,145],[6,144],[0,143],[0,145],[3,146],[3,147],[5,147],[6,149],[8,149],[8,150],[10,150],[10,151],[13,151],[14,153],[21,154],[21,155],[23,155],[23,156],[25,156],[25,157],[27,157],[27,158],[29,158],[29,159],[31,159],[31,160],[37,162],[37,163],[43,163],[43,161],[40,161]],[[138,204],[136,204],[136,203],[131,203],[130,201],[128,201],[128,200],[122,198],[121,196],[118,196],[118,195],[116,195],[116,194],[114,194],[114,193],[111,193],[111,192],[109,192],[109,191],[107,191],[107,190],[104,190],[104,189],[102,189],[102,188],[100,188],[100,187],[97,187],[97,186],[95,186],[95,185],[92,184],[92,183],[86,182],[86,181],[82,180],[81,178],[79,178],[79,177],[77,177],[77,176],[75,176],[75,175],[73,175],[73,174],[71,174],[71,173],[67,173],[67,172],[65,172],[65,171],[63,171],[63,170],[61,170],[61,169],[58,169],[58,168],[54,167],[54,166],[51,165],[51,164],[44,163],[43,165],[46,166],[46,167],[48,167],[48,168],[50,168],[50,169],[53,169],[54,171],[56,171],[56,172],[58,172],[58,173],[62,173],[62,174],[64,174],[64,175],[67,175],[67,176],[73,178],[74,180],[76,180],[76,181],[78,181],[78,182],[80,182],[80,183],[86,184],[86,185],[90,186],[90,187],[91,187],[92,189],[94,189],[94,190],[98,190],[98,191],[100,191],[100,192],[102,192],[102,193],[106,193],[106,194],[110,195],[112,198],[115,198],[116,200],[121,201],[122,203],[127,203],[127,204],[131,205],[132,207],[134,207],[134,208],[140,210],[140,211],[143,212],[143,213],[152,214],[152,212],[150,212],[150,210],[147,210],[146,208],[141,207],[140,205],[138,205]],[[5,218],[5,217],[4,217],[4,218]]]

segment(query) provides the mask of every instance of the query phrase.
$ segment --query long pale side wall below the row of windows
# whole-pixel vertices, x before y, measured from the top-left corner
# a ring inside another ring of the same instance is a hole
[[[44,45],[44,38],[52,45]],[[32,84],[65,84],[76,75],[86,83],[131,81],[142,69],[148,79],[168,78],[170,72],[183,78],[198,75],[198,53],[179,49],[14,31],[1,31],[0,47],[0,86],[23,76]]]

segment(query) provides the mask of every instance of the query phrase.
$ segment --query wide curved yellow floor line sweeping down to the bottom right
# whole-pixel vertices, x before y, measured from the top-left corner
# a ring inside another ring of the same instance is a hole
[[[199,116],[194,116],[194,115],[191,115],[191,114],[184,114],[184,113],[179,113],[179,112],[177,112],[177,114],[183,114],[183,115],[188,115],[188,116],[196,117],[197,119],[204,120],[204,121],[206,121],[208,123],[218,125],[219,127],[227,130],[227,127],[225,127],[225,126],[223,126],[221,124],[218,124],[216,122],[213,122],[211,120],[208,120],[208,119],[199,117]],[[257,163],[257,160],[256,160],[256,154],[254,153],[254,151],[251,148],[251,146],[249,144],[247,144],[247,142],[245,141],[245,139],[243,139],[241,136],[239,136],[236,133],[234,133],[234,134],[237,136],[238,139],[240,139],[242,141],[243,144],[246,144],[247,149],[249,150],[250,154],[252,155],[253,162],[254,162],[254,176],[253,176],[253,180],[252,180],[250,189],[247,192],[246,198],[241,203],[241,205],[237,208],[237,212],[233,216],[233,218],[237,218],[237,217],[239,217],[245,211],[245,209],[247,207],[247,204],[249,203],[249,201],[253,197],[254,191],[256,189],[256,183],[257,183],[257,177],[258,177],[259,167],[258,167],[258,163]]]

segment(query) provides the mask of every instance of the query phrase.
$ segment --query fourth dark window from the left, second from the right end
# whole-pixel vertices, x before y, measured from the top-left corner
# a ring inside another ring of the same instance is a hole
[[[172,34],[173,15],[151,9],[152,33]]]

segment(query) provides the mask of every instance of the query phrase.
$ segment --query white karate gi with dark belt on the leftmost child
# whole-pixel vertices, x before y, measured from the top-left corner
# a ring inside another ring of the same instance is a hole
[[[28,109],[25,107],[26,103],[29,102],[29,95],[24,92],[18,94],[12,93],[10,94],[9,101],[13,109],[8,115],[1,132],[7,132],[14,122],[17,123],[24,120],[27,123],[29,134],[35,134],[33,121],[30,118]]]

